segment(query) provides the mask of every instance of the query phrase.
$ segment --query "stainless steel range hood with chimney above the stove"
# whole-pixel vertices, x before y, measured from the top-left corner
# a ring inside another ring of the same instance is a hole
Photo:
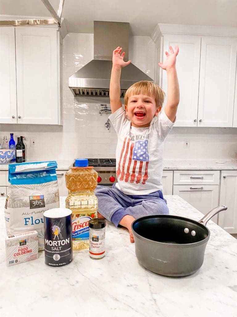
[[[74,96],[109,97],[112,51],[118,45],[128,61],[129,23],[94,21],[94,59],[71,75],[69,88]],[[137,81],[153,81],[132,63],[121,71],[121,98]]]

